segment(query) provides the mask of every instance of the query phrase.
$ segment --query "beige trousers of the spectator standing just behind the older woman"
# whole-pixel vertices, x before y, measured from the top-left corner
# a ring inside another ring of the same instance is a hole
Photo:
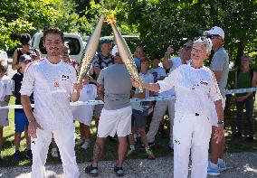
[[[175,106],[175,100],[164,100],[164,101],[157,101],[156,106],[154,108],[152,121],[150,123],[149,131],[148,131],[148,142],[154,142],[155,136],[157,135],[157,131],[160,125],[160,122],[163,118],[163,116],[166,113],[166,110],[168,108],[168,114],[169,114],[169,122],[170,122],[170,146],[173,147],[173,141],[172,141],[172,128],[173,128],[173,119],[175,115],[174,111]]]

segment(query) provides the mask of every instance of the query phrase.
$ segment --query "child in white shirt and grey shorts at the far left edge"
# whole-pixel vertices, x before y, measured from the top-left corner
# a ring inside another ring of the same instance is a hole
[[[7,62],[0,59],[0,107],[7,106],[10,96],[13,95],[13,82],[6,76],[7,69]],[[0,167],[4,166],[3,160],[1,159],[1,151],[4,146],[3,130],[4,126],[8,125],[8,108],[0,108]]]

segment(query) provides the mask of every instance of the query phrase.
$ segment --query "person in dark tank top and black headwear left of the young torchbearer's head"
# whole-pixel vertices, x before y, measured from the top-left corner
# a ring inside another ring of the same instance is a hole
[[[19,70],[21,68],[21,66],[19,65],[19,58],[21,55],[23,54],[27,54],[30,55],[30,52],[33,51],[36,53],[37,55],[37,60],[40,59],[40,53],[38,50],[34,49],[31,45],[30,45],[30,40],[31,40],[31,35],[28,33],[22,33],[20,36],[20,42],[22,43],[22,48],[17,48],[14,51],[14,55],[13,55],[13,63],[12,63],[12,69],[13,70]]]

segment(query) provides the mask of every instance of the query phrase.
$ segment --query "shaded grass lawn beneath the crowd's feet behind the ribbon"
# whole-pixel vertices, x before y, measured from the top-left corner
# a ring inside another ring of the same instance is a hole
[[[11,98],[10,105],[14,104],[14,97]],[[254,118],[256,121],[257,116],[257,102],[255,101],[254,105]],[[18,166],[18,165],[31,165],[32,162],[29,160],[26,160],[24,158],[24,148],[25,148],[25,140],[23,137],[22,143],[21,143],[21,151],[22,151],[22,161],[19,164],[14,164],[12,161],[13,155],[14,155],[14,109],[10,109],[9,112],[9,121],[10,126],[7,126],[4,128],[4,151],[2,151],[2,157],[5,160],[6,166]],[[165,123],[168,123],[167,117],[165,117]],[[246,119],[244,119],[244,127],[247,128],[247,122]],[[79,128],[78,123],[76,122],[76,138],[79,137]],[[255,122],[255,127],[256,127]],[[80,146],[76,146],[76,156],[77,156],[77,162],[83,163],[86,161],[91,161],[92,159],[92,147],[93,142],[96,137],[96,128],[94,126],[94,122],[92,122],[92,125],[90,127],[92,137],[91,137],[91,146],[88,150],[83,150],[80,148]],[[245,138],[234,138],[233,133],[236,130],[236,117],[235,117],[235,110],[231,109],[228,113],[225,115],[225,131],[226,131],[226,144],[225,144],[225,152],[226,153],[234,153],[234,152],[256,152],[257,151],[257,141],[254,143],[248,143]],[[247,129],[246,129],[247,130]],[[167,146],[169,143],[169,134],[168,129],[166,127],[167,136],[160,136],[157,135],[156,139],[156,145],[153,146],[153,152],[155,155],[158,156],[166,156],[166,155],[173,155],[172,153],[168,152]],[[257,135],[255,132],[255,139],[257,139]],[[138,144],[139,146],[139,144]],[[114,143],[110,143],[107,141],[107,145],[104,150],[104,155],[102,157],[103,160],[116,160],[117,159],[117,148],[118,145]],[[145,158],[146,154],[144,150],[138,149],[138,154],[135,155],[133,158]],[[52,158],[50,155],[50,152],[48,154],[47,158],[47,164],[59,164],[61,163],[61,158]]]

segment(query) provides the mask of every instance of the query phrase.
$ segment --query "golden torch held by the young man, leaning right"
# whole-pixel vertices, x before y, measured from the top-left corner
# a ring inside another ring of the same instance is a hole
[[[100,15],[100,20],[96,25],[94,32],[90,36],[90,40],[87,43],[86,50],[83,52],[83,59],[81,61],[81,70],[78,78],[78,82],[81,82],[84,76],[90,70],[91,63],[94,59],[94,55],[97,51],[99,39],[100,39],[100,31],[102,27],[102,23],[104,22],[104,14]]]

